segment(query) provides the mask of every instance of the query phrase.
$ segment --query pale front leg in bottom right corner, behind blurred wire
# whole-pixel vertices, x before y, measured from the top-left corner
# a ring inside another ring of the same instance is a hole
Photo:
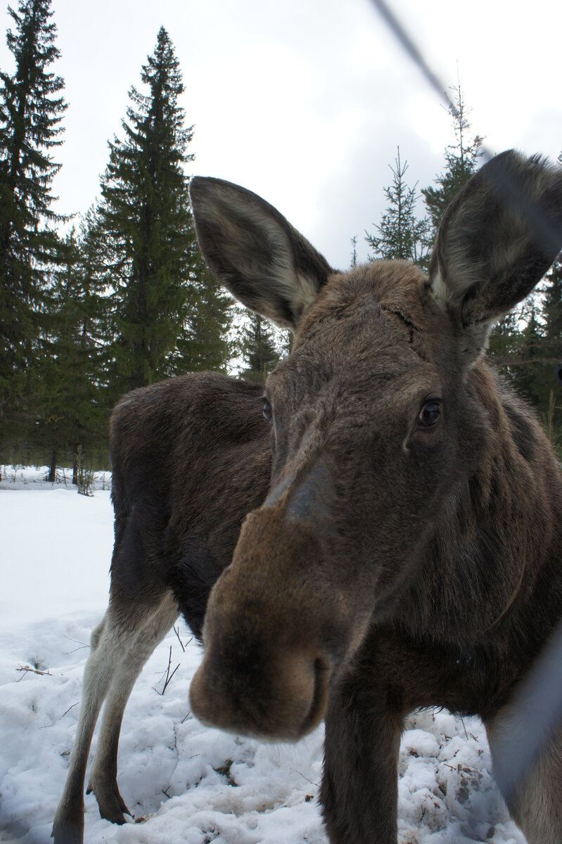
[[[507,705],[485,722],[494,766],[505,747],[517,747],[525,735],[526,720]],[[562,727],[547,738],[538,759],[524,776],[508,809],[528,844],[562,844]]]

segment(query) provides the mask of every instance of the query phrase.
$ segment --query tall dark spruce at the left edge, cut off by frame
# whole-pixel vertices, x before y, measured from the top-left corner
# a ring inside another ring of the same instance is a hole
[[[48,273],[57,260],[51,182],[60,169],[51,149],[62,143],[66,105],[62,78],[49,70],[59,57],[51,0],[20,0],[8,8],[13,75],[0,80],[0,419],[8,438],[22,429],[29,403],[26,372],[35,371],[45,328]],[[28,395],[25,396],[24,393]]]

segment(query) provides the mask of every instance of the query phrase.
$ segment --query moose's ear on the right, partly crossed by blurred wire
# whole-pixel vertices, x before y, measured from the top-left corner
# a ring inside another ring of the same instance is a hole
[[[430,284],[458,327],[468,364],[561,248],[562,167],[510,150],[457,194],[435,241]]]

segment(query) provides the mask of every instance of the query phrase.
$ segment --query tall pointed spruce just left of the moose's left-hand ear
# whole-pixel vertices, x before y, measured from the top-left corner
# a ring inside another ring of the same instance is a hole
[[[181,71],[163,27],[141,78],[149,93],[129,92],[124,139],[110,143],[101,183],[116,396],[173,374],[196,249],[183,172],[192,127],[183,126]]]

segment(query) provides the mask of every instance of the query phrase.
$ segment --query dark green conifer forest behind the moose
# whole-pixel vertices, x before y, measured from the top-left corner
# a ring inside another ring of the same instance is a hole
[[[9,14],[14,70],[0,68],[0,464],[48,465],[51,479],[57,466],[72,466],[76,477],[84,465],[109,468],[108,419],[125,392],[198,370],[263,380],[290,338],[242,315],[198,250],[188,197],[195,129],[178,102],[181,68],[165,28],[131,80],[97,201],[67,218],[53,210],[67,103],[51,0],[19,0]],[[370,260],[427,268],[447,205],[481,164],[460,84],[452,95],[451,143],[430,185],[419,187],[397,138],[381,185],[386,210],[365,220]],[[489,357],[560,449],[562,257],[494,328]]]

